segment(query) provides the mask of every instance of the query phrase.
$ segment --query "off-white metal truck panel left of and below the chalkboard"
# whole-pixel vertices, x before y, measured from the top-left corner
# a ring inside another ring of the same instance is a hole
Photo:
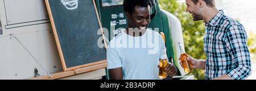
[[[0,34],[0,79],[31,78],[35,68],[41,76],[46,75],[43,68],[49,73],[63,71],[44,0],[0,0],[0,21],[3,28],[3,34]],[[100,78],[105,71],[90,74],[94,77],[89,78]],[[83,76],[78,78],[83,79]]]

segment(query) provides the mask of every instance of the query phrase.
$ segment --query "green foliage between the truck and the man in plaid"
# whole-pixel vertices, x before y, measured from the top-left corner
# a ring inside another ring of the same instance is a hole
[[[203,21],[194,22],[191,14],[185,12],[187,7],[185,3],[179,3],[176,0],[159,0],[158,2],[161,9],[169,11],[180,19],[186,53],[195,59],[205,59]],[[196,79],[204,79],[203,70],[193,69],[190,74],[193,74]]]

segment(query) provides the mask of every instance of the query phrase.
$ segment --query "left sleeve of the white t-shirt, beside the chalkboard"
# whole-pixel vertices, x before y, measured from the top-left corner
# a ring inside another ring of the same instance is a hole
[[[115,48],[107,48],[107,60],[108,69],[122,67],[121,57]]]

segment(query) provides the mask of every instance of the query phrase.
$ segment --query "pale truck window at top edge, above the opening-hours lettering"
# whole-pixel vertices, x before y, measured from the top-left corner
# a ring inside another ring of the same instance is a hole
[[[117,6],[117,5],[123,5],[123,0],[101,0],[102,6]]]

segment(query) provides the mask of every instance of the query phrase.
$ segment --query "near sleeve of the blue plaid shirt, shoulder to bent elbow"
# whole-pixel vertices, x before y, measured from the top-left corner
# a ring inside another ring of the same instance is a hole
[[[232,56],[234,69],[226,73],[230,78],[241,80],[251,74],[250,53],[247,47],[247,34],[241,25],[230,27],[225,37],[226,47]]]

